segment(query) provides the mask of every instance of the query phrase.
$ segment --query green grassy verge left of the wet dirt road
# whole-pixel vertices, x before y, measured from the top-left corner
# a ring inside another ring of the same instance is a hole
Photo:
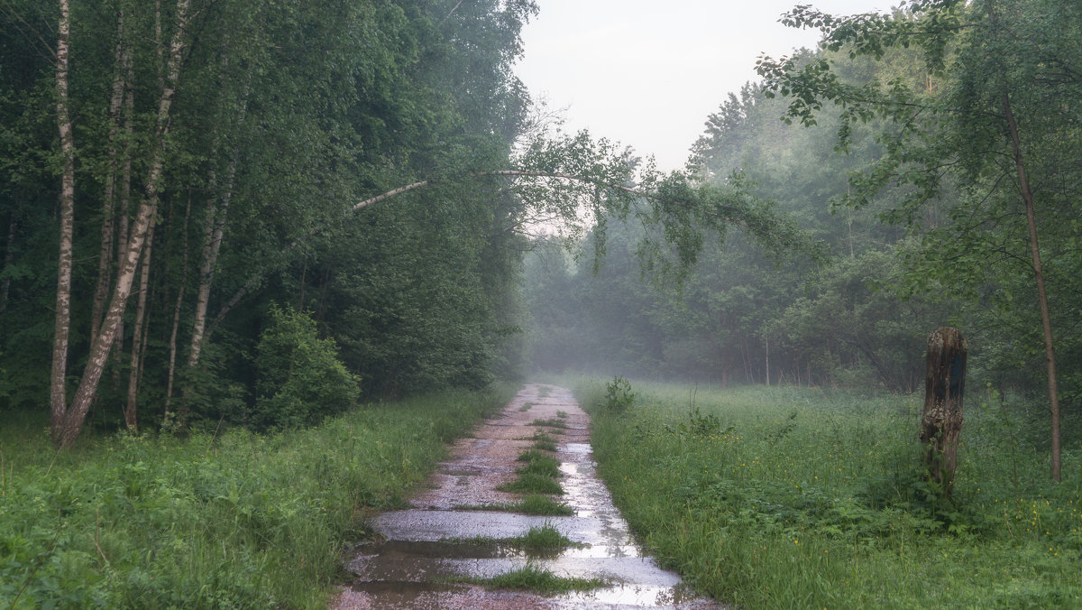
[[[272,436],[0,428],[0,607],[326,608],[362,517],[403,504],[512,389],[369,405]]]

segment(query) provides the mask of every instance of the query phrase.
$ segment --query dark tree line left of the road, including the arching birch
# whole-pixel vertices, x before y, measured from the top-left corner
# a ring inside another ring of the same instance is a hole
[[[516,375],[538,222],[602,250],[639,219],[681,269],[729,223],[804,244],[739,190],[551,129],[511,72],[536,12],[5,2],[0,410],[48,402],[58,446],[88,420],[306,425]]]

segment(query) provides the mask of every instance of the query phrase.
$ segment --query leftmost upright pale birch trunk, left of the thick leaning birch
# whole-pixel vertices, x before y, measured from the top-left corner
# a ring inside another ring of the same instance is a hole
[[[53,362],[49,384],[49,415],[53,441],[61,439],[67,406],[68,333],[71,326],[71,248],[75,233],[75,139],[68,108],[68,40],[71,35],[71,8],[60,0],[56,34],[56,127],[61,137],[64,170],[61,176],[61,234],[56,273],[56,323],[53,335]]]

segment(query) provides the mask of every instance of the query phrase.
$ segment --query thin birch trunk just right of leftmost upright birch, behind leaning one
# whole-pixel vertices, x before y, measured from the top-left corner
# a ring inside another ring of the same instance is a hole
[[[124,47],[124,14],[121,11],[117,18],[117,49],[114,53],[115,74],[113,76],[113,96],[109,100],[109,148],[108,164],[105,177],[105,196],[102,202],[102,247],[97,259],[97,287],[94,289],[94,302],[90,314],[90,341],[97,337],[102,326],[102,314],[105,311],[105,300],[109,296],[109,285],[113,283],[113,241],[114,217],[116,215],[117,186],[117,135],[120,132],[120,113],[124,102],[127,62],[130,55]],[[126,212],[127,213],[127,212]]]

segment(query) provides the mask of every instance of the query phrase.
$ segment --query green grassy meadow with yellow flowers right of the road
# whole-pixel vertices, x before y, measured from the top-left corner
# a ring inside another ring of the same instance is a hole
[[[631,527],[699,590],[745,608],[1079,608],[1082,472],[966,405],[955,502],[916,476],[919,399],[642,386],[593,407],[594,454]],[[692,407],[692,401],[695,407]]]

